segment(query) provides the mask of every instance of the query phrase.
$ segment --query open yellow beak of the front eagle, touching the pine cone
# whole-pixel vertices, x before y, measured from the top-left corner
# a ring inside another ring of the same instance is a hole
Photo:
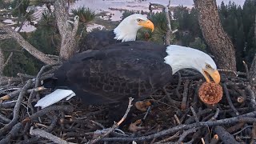
[[[213,78],[215,83],[219,83],[221,81],[221,76],[218,73],[218,70],[214,70],[212,68],[202,69],[203,76],[206,78],[206,82],[210,82],[210,77]]]

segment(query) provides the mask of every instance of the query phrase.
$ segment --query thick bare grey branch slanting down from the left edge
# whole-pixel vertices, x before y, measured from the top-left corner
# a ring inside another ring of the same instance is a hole
[[[41,51],[37,50],[34,46],[32,46],[29,42],[26,42],[24,38],[20,34],[18,34],[15,30],[10,28],[9,26],[5,26],[0,22],[0,28],[5,30],[6,33],[10,34],[12,38],[14,38],[20,46],[22,46],[27,52],[33,55],[38,60],[46,63],[46,64],[54,64],[56,63],[53,59],[48,58],[46,54],[43,54]]]

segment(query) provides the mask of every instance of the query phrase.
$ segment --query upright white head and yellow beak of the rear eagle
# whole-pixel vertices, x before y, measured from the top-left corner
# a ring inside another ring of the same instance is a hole
[[[122,22],[114,29],[114,39],[121,40],[122,42],[135,41],[137,31],[146,27],[154,30],[154,24],[145,15],[132,14],[123,19]]]

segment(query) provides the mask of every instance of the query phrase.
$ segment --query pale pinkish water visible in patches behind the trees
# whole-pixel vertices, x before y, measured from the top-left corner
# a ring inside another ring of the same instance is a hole
[[[225,4],[228,4],[230,0],[217,0],[217,4],[220,5],[221,2],[224,2]],[[106,16],[101,17],[103,19],[108,19],[111,21],[119,21],[121,20],[123,10],[143,10],[143,11],[149,11],[149,3],[160,3],[162,5],[168,5],[169,0],[146,0],[146,1],[140,1],[140,0],[78,0],[76,1],[71,7],[71,9],[78,8],[80,6],[89,7],[91,10],[94,10],[97,13],[101,13],[102,11],[106,12]],[[235,2],[237,5],[242,6],[245,0],[232,0],[231,2]],[[187,6],[187,7],[193,7],[194,2],[193,0],[171,0],[170,6]],[[34,14],[34,17],[36,18],[35,23],[38,21],[38,19],[41,17],[42,12],[46,9],[46,6],[36,6],[37,10]],[[118,9],[113,10],[110,8]],[[15,22],[13,21],[12,16],[6,17],[5,23],[7,25],[14,25]],[[103,28],[104,26],[97,25],[97,24],[90,24],[87,26],[87,30],[90,31],[93,28]],[[13,27],[14,28],[14,27]],[[16,28],[17,29],[17,28]],[[17,29],[18,30],[18,29]],[[22,26],[22,32],[30,32],[34,31],[36,28],[34,26],[30,26],[28,22],[25,23],[24,26]]]

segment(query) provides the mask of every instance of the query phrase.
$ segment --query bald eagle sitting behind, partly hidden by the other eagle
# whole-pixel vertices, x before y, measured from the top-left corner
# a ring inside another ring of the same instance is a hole
[[[154,24],[145,15],[132,14],[122,20],[114,30],[98,30],[90,32],[79,43],[79,52],[98,50],[118,42],[135,41],[137,31],[142,28],[154,31]]]

